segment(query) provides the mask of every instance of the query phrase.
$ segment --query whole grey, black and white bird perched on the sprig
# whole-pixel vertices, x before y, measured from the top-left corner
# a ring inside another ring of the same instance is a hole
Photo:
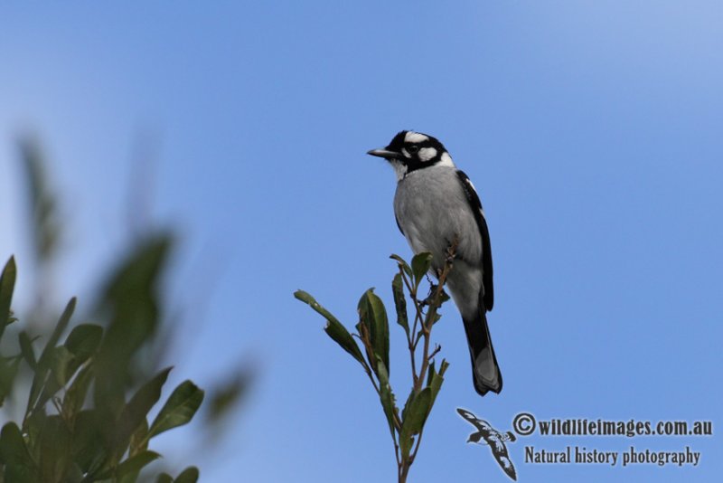
[[[502,391],[486,313],[493,308],[490,233],[472,181],[455,166],[436,137],[400,131],[387,147],[371,149],[397,175],[394,215],[412,251],[432,253],[429,272],[437,276],[455,241],[453,268],[446,278],[465,325],[474,389],[481,396]]]

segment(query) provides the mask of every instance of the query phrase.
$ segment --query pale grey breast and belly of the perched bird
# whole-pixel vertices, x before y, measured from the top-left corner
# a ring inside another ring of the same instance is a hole
[[[454,167],[430,166],[409,173],[397,185],[394,213],[412,250],[431,251],[435,268],[444,264],[455,236],[457,254],[472,264],[481,263],[482,238]]]

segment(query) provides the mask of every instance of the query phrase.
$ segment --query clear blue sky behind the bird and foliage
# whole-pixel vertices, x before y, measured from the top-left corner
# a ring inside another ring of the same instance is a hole
[[[292,292],[313,293],[348,326],[365,289],[390,302],[388,256],[409,250],[391,169],[365,152],[417,129],[446,144],[481,195],[505,387],[475,395],[449,305],[436,337],[451,366],[411,481],[507,480],[487,449],[465,444],[458,406],[501,430],[523,411],[715,428],[721,24],[714,1],[5,4],[0,255],[29,271],[14,139],[32,131],[69,227],[58,304],[89,298],[129,238],[128,198],[143,193],[147,218],[181,236],[174,299],[211,293],[181,303],[192,323],[177,328],[176,381],[258,368],[221,447],[183,457],[204,480],[391,481],[375,394]],[[155,160],[143,189],[129,187],[138,144]],[[161,443],[183,454],[192,434]],[[720,441],[531,436],[510,451],[520,481],[710,481],[723,471]],[[702,460],[524,463],[524,446],[566,445],[687,445]]]

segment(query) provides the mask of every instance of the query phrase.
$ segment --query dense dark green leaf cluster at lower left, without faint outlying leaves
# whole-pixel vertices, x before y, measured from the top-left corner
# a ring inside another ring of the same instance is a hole
[[[102,308],[108,324],[70,328],[72,298],[47,338],[21,330],[16,351],[0,354],[0,405],[29,385],[22,419],[0,430],[0,481],[133,482],[161,456],[149,441],[191,421],[201,389],[191,381],[179,384],[151,420],[172,368],[137,384],[131,369],[158,322],[156,282],[169,244],[164,236],[147,241],[111,277]],[[0,277],[0,337],[19,324],[10,309],[15,277],[11,258]],[[23,370],[31,374],[27,383],[18,376]],[[189,467],[157,481],[197,478],[198,469]]]

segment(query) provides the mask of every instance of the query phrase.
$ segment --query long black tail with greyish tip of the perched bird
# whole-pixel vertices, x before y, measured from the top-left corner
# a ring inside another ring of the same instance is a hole
[[[481,396],[488,391],[500,393],[502,391],[502,373],[497,365],[494,355],[490,329],[487,327],[487,317],[484,316],[484,306],[477,317],[465,318],[465,333],[467,345],[472,358],[472,380],[474,389]]]

